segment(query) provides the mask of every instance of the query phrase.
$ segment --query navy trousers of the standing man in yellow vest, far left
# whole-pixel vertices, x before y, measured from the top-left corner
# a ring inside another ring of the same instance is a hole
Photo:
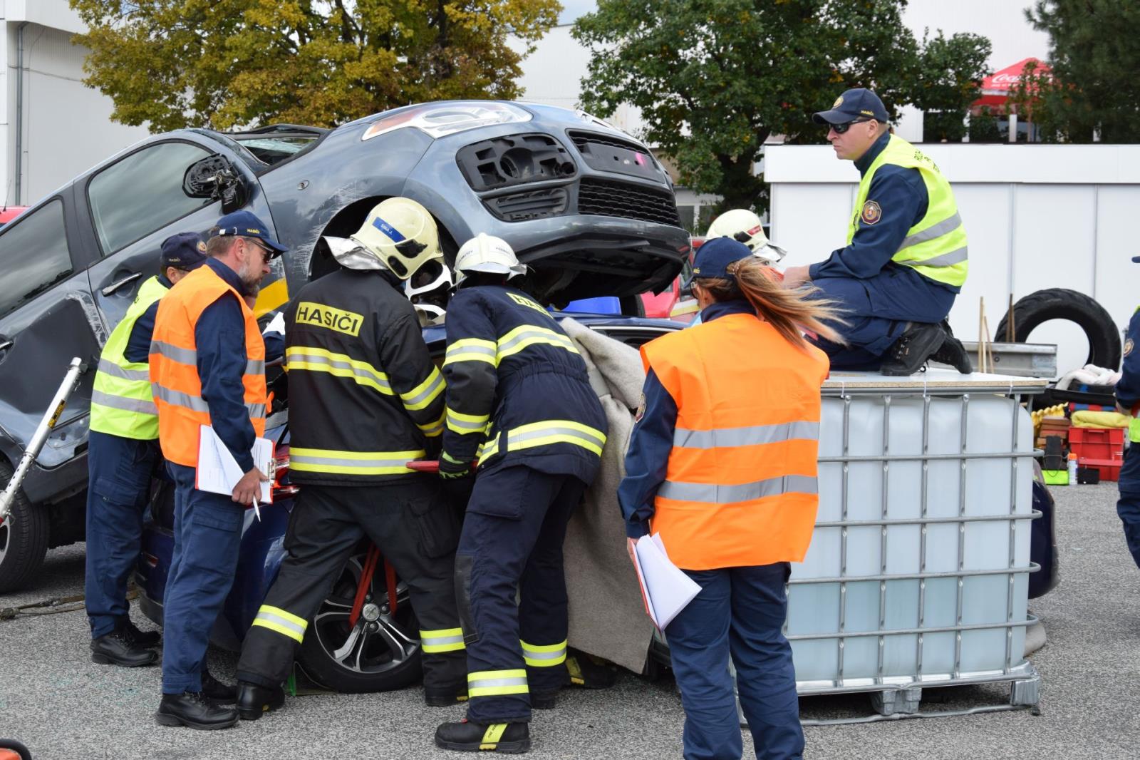
[[[142,542],[142,512],[158,461],[157,440],[92,430],[88,437],[87,576],[84,597],[91,638],[127,617],[127,582]]]

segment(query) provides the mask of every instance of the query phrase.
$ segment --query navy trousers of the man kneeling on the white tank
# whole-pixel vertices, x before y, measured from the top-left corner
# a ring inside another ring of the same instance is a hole
[[[831,357],[833,370],[877,370],[907,322],[942,322],[954,305],[953,291],[899,266],[865,280],[821,277],[812,284],[846,312],[848,324],[837,329],[847,346],[814,341]]]

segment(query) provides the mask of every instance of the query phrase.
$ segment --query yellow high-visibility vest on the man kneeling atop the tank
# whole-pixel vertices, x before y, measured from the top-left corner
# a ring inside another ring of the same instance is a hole
[[[858,229],[866,194],[871,188],[874,172],[885,163],[906,169],[918,169],[927,188],[927,212],[919,223],[906,231],[891,261],[911,267],[930,280],[961,288],[969,270],[966,228],[958,215],[958,204],[950,183],[938,171],[934,161],[906,140],[890,136],[882,149],[858,184],[855,210],[847,228],[847,244],[850,245]]]

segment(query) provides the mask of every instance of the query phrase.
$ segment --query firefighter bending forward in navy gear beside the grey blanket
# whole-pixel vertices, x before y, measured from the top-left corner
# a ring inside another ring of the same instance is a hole
[[[455,558],[471,701],[435,744],[526,752],[531,708],[553,706],[568,680],[562,541],[597,474],[605,413],[567,334],[507,286],[524,270],[510,245],[479,235],[455,269],[440,475],[479,461]]]

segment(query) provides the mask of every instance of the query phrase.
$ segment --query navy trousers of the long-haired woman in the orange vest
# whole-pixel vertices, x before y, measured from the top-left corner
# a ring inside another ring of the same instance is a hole
[[[728,657],[758,760],[799,760],[788,616],[788,563],[685,571],[700,593],[665,629],[685,709],[685,760],[739,760],[743,751]]]

